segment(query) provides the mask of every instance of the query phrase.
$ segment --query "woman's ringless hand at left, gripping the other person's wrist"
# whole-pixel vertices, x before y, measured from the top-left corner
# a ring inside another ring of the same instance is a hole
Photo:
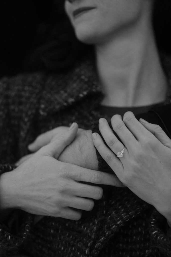
[[[1,208],[78,220],[81,210],[92,210],[103,190],[80,182],[115,185],[115,176],[63,163],[58,156],[77,134],[78,126],[67,130],[42,147],[12,172],[1,175]],[[70,208],[72,207],[72,208]]]

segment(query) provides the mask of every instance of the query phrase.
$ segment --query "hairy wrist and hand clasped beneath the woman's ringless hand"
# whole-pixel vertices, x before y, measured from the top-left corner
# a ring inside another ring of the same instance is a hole
[[[58,136],[68,130],[68,127],[60,126],[39,135],[35,141],[28,146],[32,152],[38,151],[42,146],[53,142]],[[25,162],[33,154],[28,154],[17,161],[19,166]],[[98,170],[98,160],[92,140],[91,130],[83,130],[78,128],[74,141],[68,145],[58,157],[59,161],[76,164],[87,169]]]

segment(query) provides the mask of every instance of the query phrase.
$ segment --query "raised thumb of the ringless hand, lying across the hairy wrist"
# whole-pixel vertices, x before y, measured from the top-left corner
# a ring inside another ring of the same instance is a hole
[[[51,143],[43,146],[37,154],[49,155],[57,159],[65,147],[74,140],[78,131],[77,123],[73,123],[69,129],[60,136],[56,136]]]

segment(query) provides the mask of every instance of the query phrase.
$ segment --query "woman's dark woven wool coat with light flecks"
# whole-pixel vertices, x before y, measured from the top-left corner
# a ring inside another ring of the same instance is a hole
[[[15,166],[7,163],[27,154],[27,145],[37,135],[73,122],[90,129],[100,118],[102,98],[89,60],[68,73],[24,74],[1,80],[0,174],[15,172]],[[168,94],[166,102],[170,99]],[[95,125],[93,131],[97,131]],[[112,173],[98,153],[97,157],[99,170]],[[166,219],[127,188],[104,186],[102,199],[95,201],[91,212],[84,211],[79,221],[46,216],[33,225],[34,215],[19,212],[15,217],[16,221],[19,217],[17,229],[7,223],[0,225],[0,256],[171,256]]]

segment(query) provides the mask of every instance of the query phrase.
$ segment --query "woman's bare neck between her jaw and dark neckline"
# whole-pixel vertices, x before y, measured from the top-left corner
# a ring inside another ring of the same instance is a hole
[[[103,105],[143,106],[165,100],[167,80],[146,17],[96,45],[95,51]]]

